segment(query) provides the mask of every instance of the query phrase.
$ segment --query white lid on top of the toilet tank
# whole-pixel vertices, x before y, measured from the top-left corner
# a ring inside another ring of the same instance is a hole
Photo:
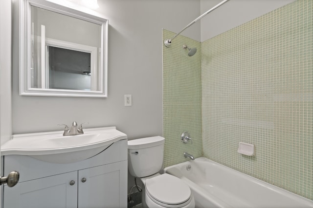
[[[142,149],[147,147],[154,147],[164,144],[165,138],[162,136],[151,136],[140,139],[133,139],[128,141],[128,149]]]

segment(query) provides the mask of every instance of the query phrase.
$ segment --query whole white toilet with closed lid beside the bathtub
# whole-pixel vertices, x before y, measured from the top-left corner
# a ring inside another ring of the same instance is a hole
[[[160,174],[164,137],[153,136],[128,141],[128,170],[140,178],[143,208],[195,208],[188,185],[168,173]]]

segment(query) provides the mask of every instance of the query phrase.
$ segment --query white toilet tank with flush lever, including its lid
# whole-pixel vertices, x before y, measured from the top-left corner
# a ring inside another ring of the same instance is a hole
[[[152,136],[128,141],[128,170],[134,177],[146,177],[162,168],[164,137]]]

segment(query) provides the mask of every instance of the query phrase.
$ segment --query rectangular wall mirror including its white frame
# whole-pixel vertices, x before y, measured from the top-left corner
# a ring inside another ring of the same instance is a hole
[[[20,0],[20,95],[107,97],[108,20]]]

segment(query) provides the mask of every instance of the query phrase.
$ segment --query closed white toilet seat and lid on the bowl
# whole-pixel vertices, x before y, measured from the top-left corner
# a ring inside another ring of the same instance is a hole
[[[163,207],[180,208],[192,200],[188,185],[167,173],[147,179],[145,188],[146,195]]]

